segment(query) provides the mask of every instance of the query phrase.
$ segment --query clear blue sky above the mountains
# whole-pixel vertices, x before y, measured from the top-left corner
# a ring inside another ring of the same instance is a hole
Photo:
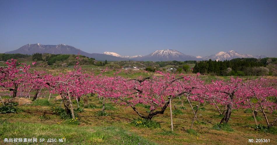
[[[277,57],[277,1],[0,0],[0,52],[68,44],[89,53]]]

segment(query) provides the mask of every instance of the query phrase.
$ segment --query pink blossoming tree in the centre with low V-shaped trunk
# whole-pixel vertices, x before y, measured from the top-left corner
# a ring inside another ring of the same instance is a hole
[[[99,95],[111,97],[115,102],[127,104],[144,119],[152,119],[157,114],[163,114],[169,105],[169,98],[175,99],[183,94],[189,95],[195,88],[192,77],[170,75],[157,71],[161,76],[138,77],[126,79],[110,77],[104,81],[106,89]],[[141,103],[150,106],[150,112],[143,114],[135,107]],[[159,110],[158,110],[159,109]]]

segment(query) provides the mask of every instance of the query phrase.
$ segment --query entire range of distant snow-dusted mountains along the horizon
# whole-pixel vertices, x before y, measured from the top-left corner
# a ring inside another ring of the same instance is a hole
[[[248,55],[248,54],[239,54],[238,52],[234,50],[229,50],[228,52],[218,52],[214,55],[201,57],[201,56],[191,56],[191,55],[185,55],[182,52],[179,52],[174,49],[165,49],[165,50],[156,50],[149,55],[141,56],[122,56],[115,52],[104,52],[103,54],[100,53],[87,53],[80,49],[77,49],[73,46],[69,46],[66,44],[58,44],[58,45],[42,45],[42,44],[27,44],[24,45],[17,50],[8,51],[5,53],[20,53],[20,54],[34,54],[34,53],[50,53],[50,54],[78,54],[84,55],[87,57],[92,57],[96,60],[100,61],[125,61],[125,60],[133,60],[133,61],[186,61],[186,60],[217,60],[217,61],[223,61],[223,60],[230,60],[234,58],[264,58],[267,56],[264,55]]]

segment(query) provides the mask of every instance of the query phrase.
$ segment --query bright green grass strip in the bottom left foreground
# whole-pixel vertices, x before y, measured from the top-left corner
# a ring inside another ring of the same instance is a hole
[[[66,144],[153,144],[134,133],[115,126],[76,127],[76,125],[63,124],[45,125],[0,122],[0,138],[10,137],[65,138]]]

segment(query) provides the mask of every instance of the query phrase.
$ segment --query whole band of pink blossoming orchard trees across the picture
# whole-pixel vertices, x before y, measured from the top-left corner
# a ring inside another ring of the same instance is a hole
[[[267,113],[272,113],[277,108],[276,101],[276,79],[253,79],[243,81],[240,78],[230,77],[229,81],[213,80],[206,82],[197,76],[176,75],[157,71],[157,76],[138,77],[126,79],[118,76],[113,77],[94,75],[82,71],[77,63],[73,71],[51,75],[45,72],[30,71],[30,65],[20,64],[11,59],[0,66],[0,86],[2,90],[9,90],[11,97],[17,96],[17,91],[23,92],[26,97],[35,91],[34,100],[39,90],[47,89],[52,94],[62,97],[66,113],[74,118],[72,99],[78,99],[83,95],[95,93],[98,97],[111,99],[115,103],[127,105],[144,119],[152,119],[155,115],[163,114],[169,106],[169,99],[173,100],[184,96],[188,101],[209,103],[215,106],[220,114],[218,104],[225,105],[226,111],[220,123],[228,123],[232,109],[251,108],[263,113],[267,127],[273,126],[273,121],[267,119]],[[35,63],[33,63],[34,65]],[[276,98],[277,99],[277,98]],[[150,106],[150,112],[143,114],[136,108],[136,104]],[[194,119],[196,117],[194,112]],[[254,113],[253,113],[254,115]],[[255,118],[255,115],[254,115]]]

